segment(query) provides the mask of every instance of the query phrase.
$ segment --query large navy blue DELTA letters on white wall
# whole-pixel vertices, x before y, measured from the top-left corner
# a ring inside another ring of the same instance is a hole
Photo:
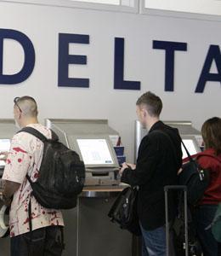
[[[3,73],[3,41],[12,39],[17,41],[24,50],[24,65],[18,73]],[[63,87],[89,87],[88,78],[69,78],[69,65],[87,65],[87,55],[70,55],[70,44],[90,44],[89,35],[59,33],[59,55],[58,55],[58,86]],[[124,80],[124,43],[127,38],[114,38],[114,89],[140,90],[140,81]],[[187,43],[153,40],[153,49],[165,51],[165,91],[173,91],[174,78],[174,56],[177,51],[187,51]],[[23,32],[12,29],[0,29],[0,84],[19,84],[29,76],[35,66],[35,48],[31,39]],[[211,73],[212,62],[216,64],[217,73]],[[163,75],[163,74],[162,74]],[[207,55],[199,74],[195,92],[204,91],[207,81],[220,82],[221,84],[221,52],[218,45],[208,46]]]

